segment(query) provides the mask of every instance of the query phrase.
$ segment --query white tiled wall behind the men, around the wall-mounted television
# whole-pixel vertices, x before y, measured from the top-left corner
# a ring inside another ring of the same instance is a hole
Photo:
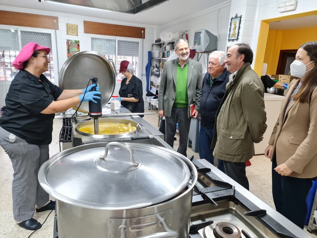
[[[233,0],[236,1],[236,0]],[[219,13],[218,13],[219,12]],[[175,30],[179,32],[181,30],[189,30],[186,32],[188,34],[188,42],[190,47],[194,45],[194,33],[196,30],[205,29],[209,30],[212,34],[218,37],[217,49],[226,51],[226,43],[228,36],[228,27],[229,27],[229,17],[230,17],[230,1],[215,6],[207,11],[199,13],[198,16],[194,17],[185,17],[162,27],[161,31],[164,30]],[[195,14],[194,14],[195,15]],[[218,17],[219,15],[219,17]],[[218,17],[218,18],[217,18]],[[219,34],[218,34],[219,32]],[[159,36],[159,34],[158,34]],[[180,33],[181,36],[181,33]],[[199,54],[199,57],[201,54]],[[208,61],[208,55],[203,54],[199,60],[203,67],[203,73],[207,72],[206,66]],[[197,54],[194,60],[197,60]]]

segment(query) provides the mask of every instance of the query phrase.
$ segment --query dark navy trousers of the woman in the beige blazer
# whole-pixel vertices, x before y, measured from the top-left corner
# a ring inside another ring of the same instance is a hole
[[[282,176],[275,172],[276,156],[272,161],[272,194],[276,211],[300,228],[304,228],[307,214],[306,198],[312,179]]]

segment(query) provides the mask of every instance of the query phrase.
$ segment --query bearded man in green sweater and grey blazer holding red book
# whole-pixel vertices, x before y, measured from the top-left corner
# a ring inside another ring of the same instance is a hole
[[[165,63],[159,85],[159,116],[165,116],[165,141],[173,147],[176,123],[179,123],[177,152],[187,156],[187,141],[191,117],[199,113],[202,87],[202,66],[189,59],[188,41],[175,41],[178,58]],[[190,105],[195,104],[191,113]]]

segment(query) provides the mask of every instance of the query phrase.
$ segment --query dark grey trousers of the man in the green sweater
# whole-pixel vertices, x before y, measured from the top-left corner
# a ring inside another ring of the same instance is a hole
[[[174,145],[174,136],[176,133],[176,123],[179,127],[179,146],[177,152],[187,156],[187,141],[191,118],[188,118],[187,107],[172,107],[171,116],[165,116],[165,141],[171,147]]]

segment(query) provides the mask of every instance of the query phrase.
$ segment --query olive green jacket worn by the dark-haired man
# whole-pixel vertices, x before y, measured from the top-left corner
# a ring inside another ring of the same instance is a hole
[[[216,114],[211,148],[217,159],[246,162],[266,130],[264,86],[249,63],[238,70]]]

